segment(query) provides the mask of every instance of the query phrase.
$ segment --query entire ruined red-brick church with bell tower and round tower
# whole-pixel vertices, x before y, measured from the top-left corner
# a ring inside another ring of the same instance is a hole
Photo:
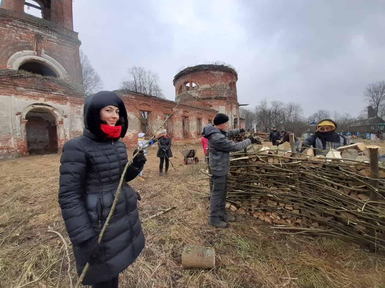
[[[0,158],[60,152],[83,130],[84,89],[72,0],[2,0],[0,5]],[[41,18],[25,13],[33,7]],[[239,118],[236,71],[223,65],[188,67],[174,77],[177,102],[115,91],[126,104],[127,147],[137,134],[165,124],[174,141],[196,141],[216,113]]]

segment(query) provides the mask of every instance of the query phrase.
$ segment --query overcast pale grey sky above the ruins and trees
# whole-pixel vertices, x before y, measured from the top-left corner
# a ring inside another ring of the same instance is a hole
[[[267,98],[300,102],[305,116],[357,115],[365,86],[385,78],[383,1],[76,0],[73,9],[104,89],[143,66],[174,100],[180,68],[223,61],[238,70],[239,103]]]

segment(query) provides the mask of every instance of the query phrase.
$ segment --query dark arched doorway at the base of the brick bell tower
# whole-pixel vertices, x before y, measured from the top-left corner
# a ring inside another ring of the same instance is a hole
[[[27,149],[30,155],[58,152],[57,121],[47,108],[32,108],[25,115]]]

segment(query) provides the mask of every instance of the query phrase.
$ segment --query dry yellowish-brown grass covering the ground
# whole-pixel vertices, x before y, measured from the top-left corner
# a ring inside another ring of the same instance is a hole
[[[169,175],[159,177],[156,149],[150,149],[146,181],[131,183],[143,199],[138,202],[142,219],[173,205],[177,208],[143,224],[146,248],[121,274],[121,287],[385,287],[385,258],[357,245],[331,238],[275,234],[250,217],[238,216],[238,222],[227,229],[212,228],[207,223],[209,200],[202,193],[207,187],[196,186],[202,177],[199,169],[204,167],[201,146],[195,146],[201,162],[187,166],[179,151],[191,145],[172,147],[177,171],[170,168]],[[0,243],[4,240],[0,287],[18,287],[35,280],[53,263],[40,281],[28,287],[57,287],[60,270],[59,287],[69,287],[66,258],[61,267],[62,243],[47,233],[61,232],[70,243],[57,204],[59,158],[33,156],[0,162]],[[186,243],[214,247],[216,268],[183,269],[181,252]],[[75,280],[74,258],[70,257]]]

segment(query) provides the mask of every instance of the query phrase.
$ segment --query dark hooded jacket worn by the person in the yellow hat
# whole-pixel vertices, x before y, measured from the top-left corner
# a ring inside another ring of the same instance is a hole
[[[320,121],[318,121],[317,125],[325,120],[333,122],[334,126],[337,128],[336,122],[331,119],[321,119]],[[314,150],[314,155],[326,155],[330,149],[337,149],[340,146],[344,146],[346,145],[346,142],[346,138],[335,132],[335,129],[329,132],[316,131],[315,134],[306,138],[302,142],[301,152],[303,152],[303,150],[305,150],[307,147],[313,146],[313,148],[316,148]]]

